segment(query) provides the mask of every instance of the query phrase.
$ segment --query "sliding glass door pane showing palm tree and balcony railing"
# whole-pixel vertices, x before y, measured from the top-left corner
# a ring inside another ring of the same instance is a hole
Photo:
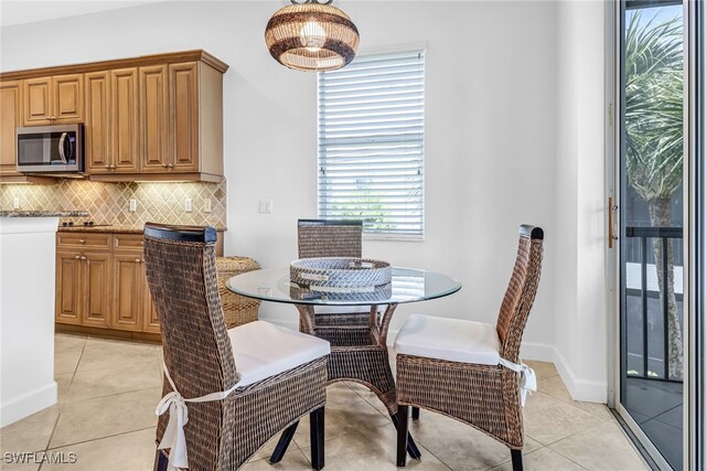
[[[620,404],[660,468],[683,467],[684,14],[681,1],[622,1]]]

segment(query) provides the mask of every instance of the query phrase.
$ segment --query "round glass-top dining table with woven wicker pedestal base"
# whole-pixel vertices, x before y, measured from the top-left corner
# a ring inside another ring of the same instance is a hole
[[[396,426],[397,394],[387,354],[387,331],[395,309],[400,303],[452,295],[461,289],[461,283],[439,272],[393,267],[392,281],[382,287],[365,291],[341,288],[317,290],[291,282],[289,267],[282,267],[236,275],[226,281],[226,287],[246,298],[293,304],[299,311],[300,330],[331,342],[329,384],[339,381],[364,384],[385,405]],[[330,325],[317,327],[314,308],[321,306],[370,306],[370,323],[339,329]],[[378,314],[378,306],[386,306],[382,315]],[[271,462],[281,459],[296,425],[292,427],[282,433]],[[408,437],[407,450],[415,459],[421,456],[411,436]]]

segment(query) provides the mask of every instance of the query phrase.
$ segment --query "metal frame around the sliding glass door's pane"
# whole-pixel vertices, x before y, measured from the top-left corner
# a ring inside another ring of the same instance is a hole
[[[622,35],[622,11],[621,11],[621,0],[609,0],[606,3],[606,227],[609,227],[609,212],[613,211],[609,207],[609,199],[612,197],[614,205],[620,207],[620,143],[621,143],[621,122],[622,122],[622,97],[621,97],[621,81],[620,81],[620,69],[622,66],[622,51],[621,51],[621,41],[620,38]],[[689,0],[684,0],[684,38],[685,38],[685,57],[687,60],[684,61],[684,73],[685,73],[685,83],[684,90],[688,90],[685,93],[685,118],[688,113],[688,97],[692,94],[691,87],[695,82],[692,81],[692,68],[689,67],[688,61],[692,58],[692,54],[688,54],[687,49],[687,39],[689,38],[689,29],[688,22],[689,18],[687,17],[686,11],[689,9],[695,9],[694,3]],[[685,119],[685,142],[688,142],[692,133],[688,132],[686,128],[688,120]],[[686,146],[685,146],[686,149]],[[691,152],[692,154],[694,152]],[[686,156],[685,156],[686,157]],[[693,191],[694,185],[692,184],[692,179],[694,175],[693,172],[689,171],[691,165],[688,163],[688,159],[684,159],[684,272],[689,274],[689,280],[685,285],[691,285],[693,282],[692,279],[692,265],[688,264],[689,257],[693,256],[693,246],[692,240],[694,240],[693,235],[691,234],[694,225],[692,224],[692,213],[694,212],[694,204],[689,204],[689,197],[694,195],[689,194]],[[620,211],[614,212],[613,217],[613,231],[617,227],[618,231],[613,234],[620,234],[621,220],[620,220]],[[659,469],[670,470],[672,467],[668,464],[666,459],[662,456],[659,449],[652,443],[649,437],[642,431],[638,422],[630,416],[628,410],[621,404],[621,371],[622,371],[622,355],[621,355],[621,298],[620,298],[620,236],[613,244],[613,248],[608,248],[608,238],[610,237],[610,231],[607,236],[606,244],[606,299],[608,306],[607,317],[608,317],[608,406],[618,415],[619,420],[625,427],[629,435],[632,435],[632,439],[634,445],[643,451],[643,458],[648,461],[652,461],[650,464],[656,467]],[[684,390],[687,393],[684,402],[684,464],[694,463],[693,457],[696,454],[696,439],[695,437],[695,426],[694,420],[687,418],[693,409],[693,402],[695,395],[692,394],[692,385],[695,383],[693,381],[691,365],[693,364],[694,358],[687,358],[687,356],[693,356],[695,353],[689,352],[691,343],[689,339],[692,338],[692,328],[693,323],[691,322],[689,312],[693,309],[694,297],[691,296],[693,288],[689,286],[684,287],[684,296],[688,302],[684,303],[684,331],[685,335],[685,345],[684,345],[684,370],[688,372],[684,375]],[[687,330],[687,327],[689,328]],[[702,345],[703,346],[703,345]],[[693,349],[692,349],[693,350]],[[689,354],[687,354],[689,352]],[[693,417],[693,415],[692,415]],[[692,431],[694,430],[694,431]],[[703,439],[703,437],[702,437]],[[688,468],[695,469],[695,468]]]

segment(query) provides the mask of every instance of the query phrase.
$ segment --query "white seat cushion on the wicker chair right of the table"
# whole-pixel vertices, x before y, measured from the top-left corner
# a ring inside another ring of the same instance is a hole
[[[395,339],[404,355],[481,365],[499,364],[499,347],[494,325],[421,314],[409,315]]]

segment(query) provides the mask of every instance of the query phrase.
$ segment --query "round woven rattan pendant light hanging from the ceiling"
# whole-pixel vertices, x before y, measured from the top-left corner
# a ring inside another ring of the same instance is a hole
[[[332,0],[291,0],[267,23],[265,42],[280,64],[297,71],[335,71],[353,61],[359,34]]]

